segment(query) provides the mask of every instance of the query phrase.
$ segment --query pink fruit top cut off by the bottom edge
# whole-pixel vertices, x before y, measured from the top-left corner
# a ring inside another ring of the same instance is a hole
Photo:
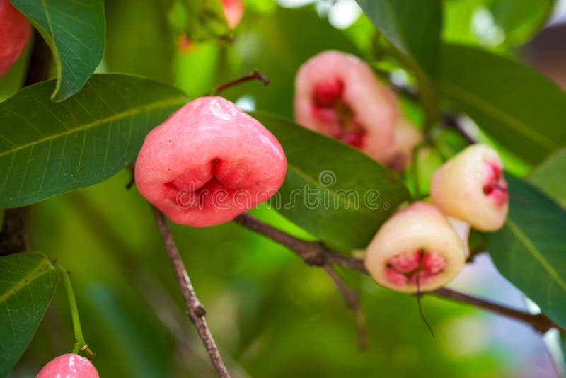
[[[60,355],[47,363],[35,378],[98,378],[96,367],[74,353]]]

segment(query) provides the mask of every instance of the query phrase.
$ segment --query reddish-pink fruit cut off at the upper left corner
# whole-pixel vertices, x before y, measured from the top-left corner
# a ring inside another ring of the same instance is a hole
[[[10,0],[0,0],[0,75],[18,60],[30,40],[31,28]]]

